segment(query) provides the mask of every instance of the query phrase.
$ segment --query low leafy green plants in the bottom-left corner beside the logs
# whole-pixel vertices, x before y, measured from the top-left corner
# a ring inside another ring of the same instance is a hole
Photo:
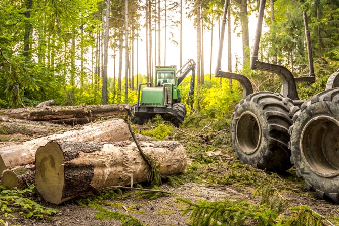
[[[15,218],[15,212],[27,218],[44,219],[47,215],[54,215],[57,210],[41,206],[27,196],[36,193],[35,187],[31,186],[24,190],[8,190],[0,186],[0,211],[6,217]],[[12,214],[13,213],[13,214]]]

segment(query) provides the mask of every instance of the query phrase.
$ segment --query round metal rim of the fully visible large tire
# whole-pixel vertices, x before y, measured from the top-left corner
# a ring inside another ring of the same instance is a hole
[[[243,152],[255,153],[261,143],[261,127],[257,116],[249,111],[242,113],[235,130],[237,143]]]

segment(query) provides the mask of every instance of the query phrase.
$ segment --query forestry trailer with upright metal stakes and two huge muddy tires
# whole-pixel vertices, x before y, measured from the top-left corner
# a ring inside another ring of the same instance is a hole
[[[280,94],[253,93],[247,77],[221,71],[228,3],[226,0],[215,75],[238,80],[243,87],[243,99],[236,105],[231,123],[236,156],[246,164],[275,172],[294,164],[309,190],[321,199],[339,203],[339,70],[329,77],[325,91],[307,101],[299,100],[296,82],[315,81],[306,14],[310,76],[294,77],[284,66],[258,61],[265,10],[265,0],[261,0],[250,68],[277,74],[282,87]]]

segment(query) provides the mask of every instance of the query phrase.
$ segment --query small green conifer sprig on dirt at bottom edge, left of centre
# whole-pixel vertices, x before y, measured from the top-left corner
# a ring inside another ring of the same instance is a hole
[[[127,226],[127,225],[142,226],[143,225],[139,220],[137,220],[136,218],[133,218],[131,215],[107,210],[103,208],[102,206],[100,206],[99,204],[89,204],[88,206],[99,211],[99,213],[95,214],[95,217],[97,219],[120,220],[122,222],[121,224],[122,226]]]

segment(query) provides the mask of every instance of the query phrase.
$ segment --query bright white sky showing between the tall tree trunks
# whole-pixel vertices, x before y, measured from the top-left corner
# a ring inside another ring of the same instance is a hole
[[[183,10],[185,10],[186,7],[183,7]],[[197,61],[197,32],[194,29],[193,21],[186,18],[186,12],[183,14],[183,57],[182,62],[183,64],[188,61],[188,59],[193,59],[195,62]],[[177,20],[180,20],[180,15],[177,15],[177,18],[174,18]],[[213,33],[213,48],[212,48],[212,66],[211,66],[211,73],[214,74],[216,64],[217,64],[217,55],[218,55],[218,48],[219,48],[219,36],[218,36],[218,21],[215,20],[215,26],[214,26],[214,33]],[[257,18],[255,15],[249,16],[249,36],[250,36],[250,47],[252,48],[253,40],[255,37],[255,30],[257,25]],[[163,26],[163,24],[161,25]],[[226,23],[227,26],[227,23]],[[231,30],[233,31],[235,28],[234,25],[234,18],[231,17]],[[175,40],[179,43],[180,42],[180,27],[177,29],[171,29],[171,31],[175,34]],[[161,36],[163,35],[164,29],[161,30]],[[168,33],[167,28],[167,33]],[[242,63],[242,39],[241,35],[237,36],[237,33],[240,32],[240,28],[236,28],[236,30],[232,33],[232,67],[233,71],[235,69],[235,62],[236,59],[240,63]],[[211,31],[205,30],[203,32],[204,35],[204,74],[209,74],[210,71],[210,49],[211,49]],[[153,34],[153,51],[154,43],[155,43],[155,32]],[[167,35],[167,37],[170,35]],[[138,40],[138,55],[137,55],[137,43],[135,42],[135,59],[134,59],[134,74],[137,74],[137,71],[139,74],[146,75],[146,29],[143,28],[140,33],[140,39]],[[167,38],[168,39],[168,38]],[[157,43],[156,43],[157,44]],[[164,40],[161,40],[161,64],[163,65],[164,62]],[[166,42],[166,65],[177,65],[177,69],[180,67],[180,45],[177,46],[171,42],[169,39]],[[109,54],[113,54],[112,50],[109,52]],[[227,27],[225,31],[225,37],[224,37],[224,47],[223,47],[223,58],[222,58],[222,70],[227,70]],[[137,57],[138,57],[138,64],[137,64]],[[122,76],[125,75],[125,66],[124,66],[124,59],[123,58],[123,66],[122,66]],[[116,65],[118,65],[118,56],[117,56]],[[153,67],[154,65],[157,65],[154,61],[154,55],[153,55]],[[113,77],[113,69],[114,69],[114,63],[113,59],[109,58],[108,62],[108,76]],[[152,68],[154,72],[154,68]],[[118,67],[116,66],[116,74],[118,73]]]

